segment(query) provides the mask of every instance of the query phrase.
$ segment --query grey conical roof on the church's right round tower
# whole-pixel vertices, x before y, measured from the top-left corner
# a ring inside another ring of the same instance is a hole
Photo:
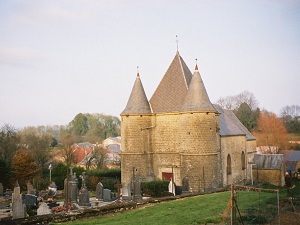
[[[209,100],[197,65],[181,111],[216,111]]]

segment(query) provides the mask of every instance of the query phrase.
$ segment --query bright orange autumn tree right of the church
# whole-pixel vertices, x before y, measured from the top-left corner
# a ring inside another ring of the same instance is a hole
[[[287,131],[281,119],[272,112],[261,112],[258,119],[257,137],[258,146],[266,146],[269,153],[278,153],[280,149],[286,149]]]

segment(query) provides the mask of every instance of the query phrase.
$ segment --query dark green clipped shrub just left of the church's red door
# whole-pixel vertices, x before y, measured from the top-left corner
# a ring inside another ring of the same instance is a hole
[[[144,195],[151,197],[161,197],[164,192],[168,191],[169,181],[155,180],[142,182],[141,188]]]

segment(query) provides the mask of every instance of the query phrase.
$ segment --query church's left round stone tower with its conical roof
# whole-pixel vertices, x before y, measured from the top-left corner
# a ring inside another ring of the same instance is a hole
[[[122,185],[127,190],[130,190],[133,177],[146,177],[151,173],[148,157],[151,143],[147,132],[152,125],[151,119],[151,108],[138,73],[121,113],[121,170],[125,171],[122,173]]]

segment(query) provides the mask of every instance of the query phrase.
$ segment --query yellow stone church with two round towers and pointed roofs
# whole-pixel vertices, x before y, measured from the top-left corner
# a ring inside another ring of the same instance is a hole
[[[242,183],[256,148],[234,113],[210,102],[198,66],[192,74],[178,51],[150,100],[137,74],[121,113],[121,138],[126,190],[133,177],[172,179],[193,192]]]

